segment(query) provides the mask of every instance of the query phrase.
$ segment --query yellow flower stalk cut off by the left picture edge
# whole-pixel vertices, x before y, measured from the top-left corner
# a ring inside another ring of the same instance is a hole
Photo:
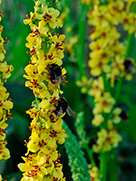
[[[1,4],[1,1],[0,1]],[[2,11],[0,11],[0,21],[2,20]],[[7,160],[10,157],[9,150],[5,147],[7,145],[5,129],[8,127],[6,120],[11,119],[10,109],[13,107],[13,103],[9,97],[7,89],[4,87],[4,83],[10,77],[10,73],[13,70],[12,65],[7,65],[4,61],[6,50],[4,45],[8,43],[7,38],[3,39],[1,34],[3,26],[0,25],[0,161]]]

